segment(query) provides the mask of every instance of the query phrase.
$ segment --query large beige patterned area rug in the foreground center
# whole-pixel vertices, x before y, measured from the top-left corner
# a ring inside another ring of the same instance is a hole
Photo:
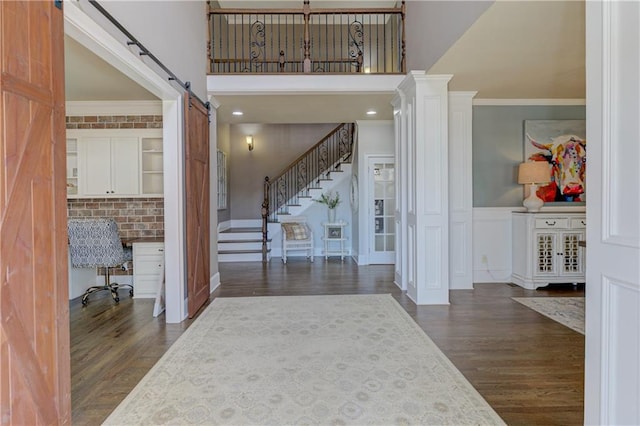
[[[497,425],[390,295],[218,298],[105,424]]]

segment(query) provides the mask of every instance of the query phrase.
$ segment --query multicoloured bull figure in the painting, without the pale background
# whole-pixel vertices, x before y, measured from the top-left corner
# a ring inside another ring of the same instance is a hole
[[[538,141],[527,134],[527,139],[541,151],[528,159],[551,164],[551,182],[541,186],[538,197],[543,201],[584,201],[587,142],[576,135],[561,135],[550,142]]]

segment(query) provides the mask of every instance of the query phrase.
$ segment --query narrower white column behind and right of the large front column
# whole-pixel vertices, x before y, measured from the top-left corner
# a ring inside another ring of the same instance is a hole
[[[449,282],[473,288],[472,100],[477,92],[449,92]]]

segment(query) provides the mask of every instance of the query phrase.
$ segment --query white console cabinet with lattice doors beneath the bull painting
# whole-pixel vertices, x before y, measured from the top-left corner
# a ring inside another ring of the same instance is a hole
[[[513,213],[511,279],[528,289],[584,283],[583,213]]]

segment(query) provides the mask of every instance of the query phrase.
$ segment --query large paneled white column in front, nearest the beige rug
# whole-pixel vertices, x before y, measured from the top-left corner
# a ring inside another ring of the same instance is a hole
[[[407,295],[417,304],[449,303],[450,75],[411,71],[399,86],[407,107]]]

